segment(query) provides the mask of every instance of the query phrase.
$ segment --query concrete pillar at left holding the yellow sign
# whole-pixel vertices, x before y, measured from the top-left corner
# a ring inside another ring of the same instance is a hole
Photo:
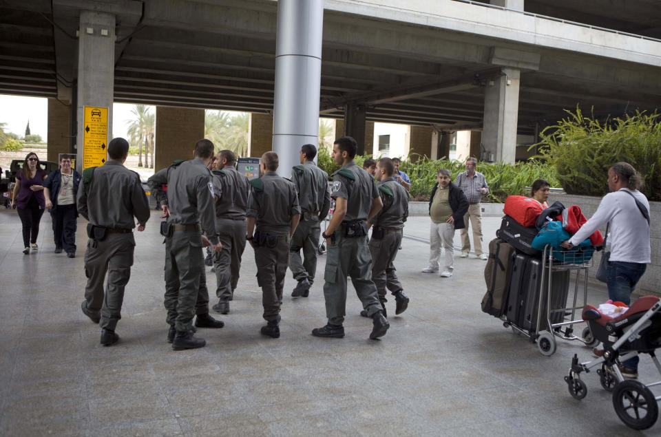
[[[83,169],[84,107],[107,107],[107,141],[112,139],[115,72],[115,16],[81,10],[78,36],[78,96],[76,99],[76,169]],[[105,144],[107,145],[107,141]]]

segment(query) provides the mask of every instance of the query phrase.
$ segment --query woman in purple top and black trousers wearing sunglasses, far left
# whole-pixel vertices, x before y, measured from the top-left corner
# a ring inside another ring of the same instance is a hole
[[[23,253],[28,255],[30,248],[36,251],[36,237],[39,235],[39,222],[45,208],[43,181],[46,172],[39,167],[39,157],[30,152],[25,156],[23,167],[16,175],[14,202],[23,224]]]

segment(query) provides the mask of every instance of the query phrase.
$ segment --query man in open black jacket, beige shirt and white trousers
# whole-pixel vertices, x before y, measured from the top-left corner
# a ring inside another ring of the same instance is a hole
[[[439,270],[441,246],[445,250],[445,262],[439,276],[452,277],[454,269],[454,230],[463,229],[463,217],[468,211],[468,199],[461,189],[450,182],[450,171],[440,169],[436,176],[437,184],[429,198],[430,255],[429,266],[423,273],[435,273]]]

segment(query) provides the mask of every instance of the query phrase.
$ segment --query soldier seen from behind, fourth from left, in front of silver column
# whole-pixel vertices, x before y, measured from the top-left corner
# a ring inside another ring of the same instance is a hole
[[[280,337],[280,306],[282,288],[287,273],[289,239],[300,220],[296,187],[281,178],[277,170],[277,153],[269,151],[262,156],[262,177],[250,181],[251,195],[246,222],[246,239],[255,248],[257,281],[262,288],[264,319],[262,334]],[[257,225],[257,231],[253,230]]]

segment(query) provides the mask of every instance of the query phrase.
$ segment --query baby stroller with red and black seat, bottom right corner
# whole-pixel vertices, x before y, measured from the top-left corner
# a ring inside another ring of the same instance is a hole
[[[613,392],[613,407],[620,420],[633,429],[651,427],[659,415],[657,401],[661,396],[655,397],[649,387],[661,385],[661,381],[645,385],[625,380],[618,364],[638,354],[649,354],[661,374],[661,363],[655,355],[655,350],[661,347],[661,299],[640,297],[619,317],[602,315],[594,306],[587,305],[583,308],[583,320],[595,339],[609,343],[605,343],[603,356],[594,361],[578,363],[574,354],[569,375],[565,376],[569,394],[579,400],[585,398],[587,387],[580,374],[600,365],[597,374],[601,386]]]

